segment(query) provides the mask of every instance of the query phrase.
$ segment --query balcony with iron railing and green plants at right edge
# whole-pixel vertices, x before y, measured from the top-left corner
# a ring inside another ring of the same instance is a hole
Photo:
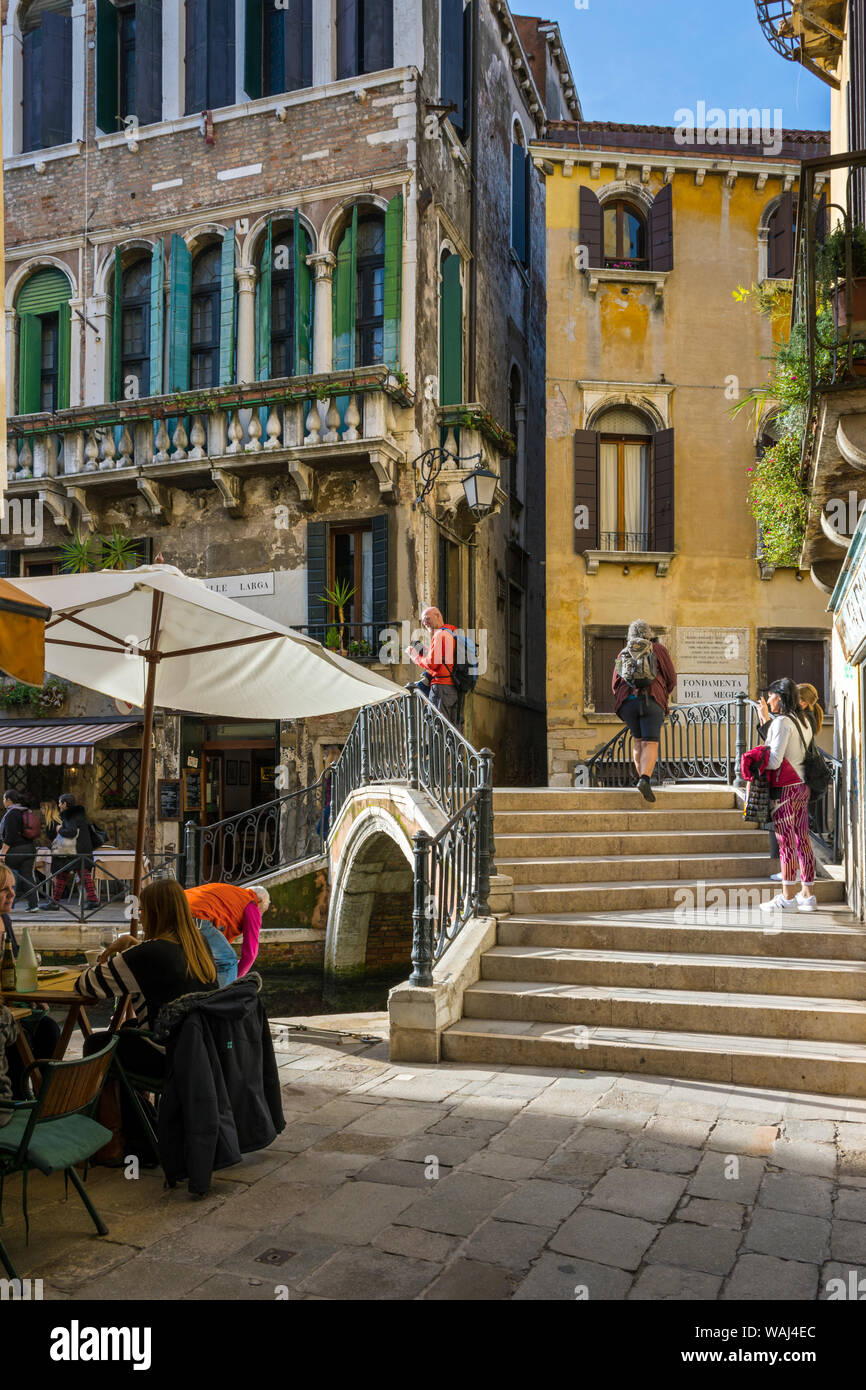
[[[830,179],[827,221],[816,182]],[[809,492],[801,556],[831,594],[866,491],[866,150],[805,160],[794,263],[791,343],[802,346],[808,404],[802,478]],[[853,502],[852,502],[853,499]]]

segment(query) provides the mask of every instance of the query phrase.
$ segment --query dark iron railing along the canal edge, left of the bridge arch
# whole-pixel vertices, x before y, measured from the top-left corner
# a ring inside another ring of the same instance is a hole
[[[275,869],[314,859],[327,835],[325,781],[252,806],[213,826],[185,826],[186,887],[195,883],[249,883]]]

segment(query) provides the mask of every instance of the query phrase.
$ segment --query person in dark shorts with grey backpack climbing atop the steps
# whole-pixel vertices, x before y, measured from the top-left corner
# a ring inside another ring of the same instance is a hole
[[[649,623],[637,619],[628,628],[610,684],[616,712],[634,739],[638,791],[644,801],[655,801],[649,780],[659,758],[659,734],[677,684],[677,673],[670,652],[656,641]]]

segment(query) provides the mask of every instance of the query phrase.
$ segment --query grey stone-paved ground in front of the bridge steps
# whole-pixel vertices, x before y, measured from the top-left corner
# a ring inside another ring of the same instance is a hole
[[[278,1044],[286,1127],[207,1198],[93,1169],[99,1238],[36,1173],[25,1247],[8,1180],[19,1275],[54,1300],[787,1301],[866,1280],[866,1101]]]

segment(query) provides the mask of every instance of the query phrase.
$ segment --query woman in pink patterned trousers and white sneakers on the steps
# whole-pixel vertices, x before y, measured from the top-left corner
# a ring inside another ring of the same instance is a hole
[[[812,719],[817,720],[817,714],[809,717],[801,709],[798,688],[788,677],[771,682],[763,703],[771,716],[766,735],[770,753],[767,770],[770,783],[780,788],[773,809],[773,828],[781,860],[781,892],[760,906],[765,912],[815,912],[815,852],[809,834],[810,792],[805,780],[805,762],[815,738]],[[796,891],[798,872],[801,892]]]

